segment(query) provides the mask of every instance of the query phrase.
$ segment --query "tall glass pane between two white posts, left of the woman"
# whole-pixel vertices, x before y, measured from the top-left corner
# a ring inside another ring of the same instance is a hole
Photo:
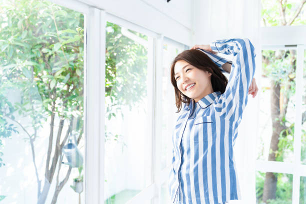
[[[151,184],[150,41],[106,22],[105,203],[125,203]]]

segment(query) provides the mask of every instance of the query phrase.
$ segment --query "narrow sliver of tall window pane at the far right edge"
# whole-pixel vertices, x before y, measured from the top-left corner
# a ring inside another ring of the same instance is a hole
[[[301,127],[301,163],[306,164],[306,49],[303,64],[302,127]]]

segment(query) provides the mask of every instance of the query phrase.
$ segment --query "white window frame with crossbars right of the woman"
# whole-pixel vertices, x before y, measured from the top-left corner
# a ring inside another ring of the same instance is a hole
[[[299,203],[300,176],[306,176],[306,165],[301,164],[301,107],[303,94],[303,60],[306,48],[306,25],[261,27],[262,49],[296,49],[295,121],[292,162],[255,161],[255,170],[289,173],[293,175],[292,203]],[[261,57],[261,54],[260,54]],[[260,66],[261,67],[261,66]],[[259,101],[258,101],[259,102]],[[257,130],[257,138],[258,138]]]

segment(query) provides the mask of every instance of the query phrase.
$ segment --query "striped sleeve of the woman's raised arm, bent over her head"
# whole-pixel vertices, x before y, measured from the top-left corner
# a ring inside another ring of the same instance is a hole
[[[210,47],[213,51],[234,56],[225,92],[214,101],[214,108],[221,117],[237,121],[242,117],[248,88],[255,72],[254,47],[247,38],[216,40]]]

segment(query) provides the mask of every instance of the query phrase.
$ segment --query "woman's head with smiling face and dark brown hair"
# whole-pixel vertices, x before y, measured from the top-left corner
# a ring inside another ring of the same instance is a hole
[[[181,102],[189,103],[190,98],[194,97],[197,102],[210,92],[225,91],[227,78],[218,65],[226,61],[220,58],[216,64],[206,52],[198,49],[185,50],[175,57],[171,65],[171,83],[174,86],[177,112],[180,111]],[[195,83],[193,91],[186,90],[186,85],[190,83]]]

